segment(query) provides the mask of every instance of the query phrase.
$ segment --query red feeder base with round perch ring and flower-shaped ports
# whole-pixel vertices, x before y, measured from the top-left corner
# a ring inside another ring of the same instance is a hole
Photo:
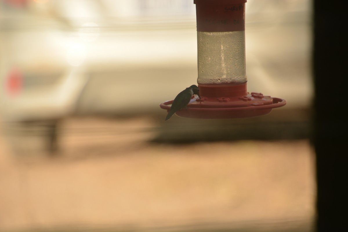
[[[247,93],[246,83],[234,86],[198,85],[201,99],[194,97],[187,109],[176,112],[183,118],[230,119],[268,114],[273,108],[286,104],[282,98]],[[160,104],[169,111],[173,100]]]

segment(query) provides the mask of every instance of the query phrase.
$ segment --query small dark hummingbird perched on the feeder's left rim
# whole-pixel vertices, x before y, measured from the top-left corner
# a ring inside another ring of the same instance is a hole
[[[186,88],[185,90],[181,91],[175,98],[172,103],[171,109],[169,110],[166,121],[170,119],[173,114],[175,114],[176,111],[181,110],[185,108],[190,100],[193,94],[197,94],[199,96],[199,88],[196,85],[191,85],[190,87]]]

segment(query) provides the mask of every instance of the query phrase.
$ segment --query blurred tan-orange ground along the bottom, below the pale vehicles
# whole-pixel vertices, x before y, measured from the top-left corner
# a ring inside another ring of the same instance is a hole
[[[0,137],[0,231],[311,231],[308,140],[156,144],[153,126],[67,119],[50,158]]]

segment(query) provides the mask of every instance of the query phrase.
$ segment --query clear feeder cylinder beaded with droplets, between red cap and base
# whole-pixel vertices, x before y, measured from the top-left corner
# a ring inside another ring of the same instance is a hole
[[[238,85],[247,81],[244,31],[197,31],[199,85]]]

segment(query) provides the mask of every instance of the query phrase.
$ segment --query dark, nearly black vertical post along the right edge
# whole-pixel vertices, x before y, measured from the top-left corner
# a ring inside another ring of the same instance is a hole
[[[317,231],[348,231],[347,8],[314,0]]]

